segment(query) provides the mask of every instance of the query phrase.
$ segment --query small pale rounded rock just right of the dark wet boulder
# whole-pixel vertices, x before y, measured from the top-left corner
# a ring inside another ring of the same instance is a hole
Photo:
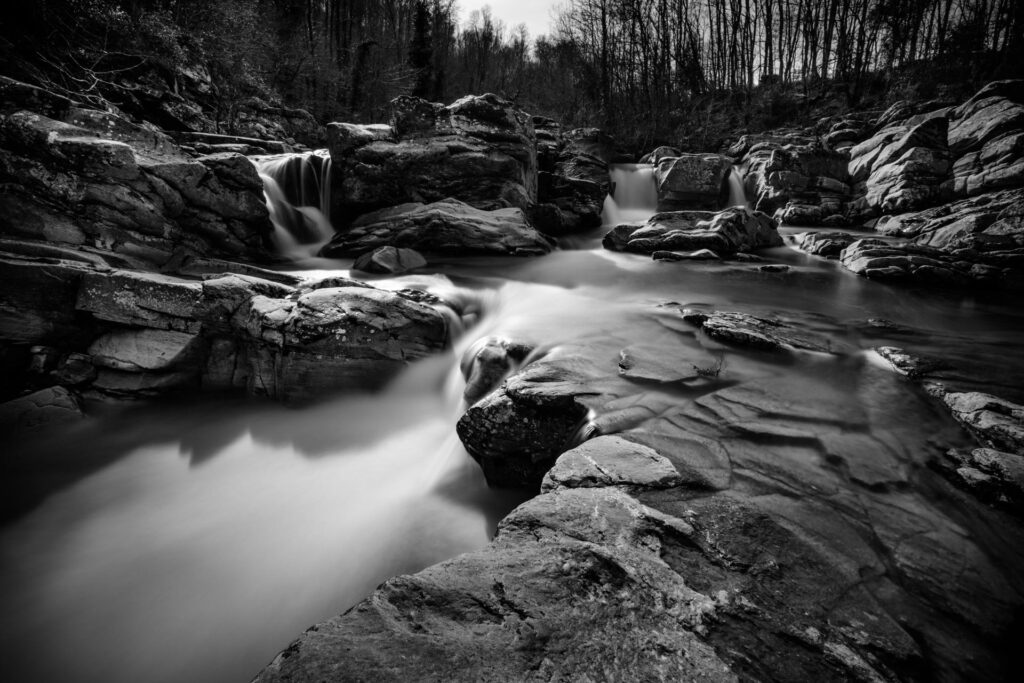
[[[672,462],[653,449],[620,436],[598,436],[559,456],[544,476],[541,492],[623,484],[670,488],[680,483]]]

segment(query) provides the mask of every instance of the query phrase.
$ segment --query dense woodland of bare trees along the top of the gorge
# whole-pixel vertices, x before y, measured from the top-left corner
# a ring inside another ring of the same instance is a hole
[[[1024,63],[1019,0],[565,0],[547,36],[486,7],[460,22],[455,0],[4,5],[5,72],[115,103],[140,79],[190,89],[227,129],[245,97],[367,122],[399,94],[496,92],[637,148],[708,147],[810,102],[954,96]]]

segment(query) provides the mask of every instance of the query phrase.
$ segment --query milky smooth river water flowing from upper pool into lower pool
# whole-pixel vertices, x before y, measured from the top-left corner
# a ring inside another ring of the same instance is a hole
[[[642,220],[653,212],[652,180],[644,168],[622,171],[610,210]],[[790,271],[766,273],[575,244],[376,281],[472,300],[479,311],[457,348],[384,391],[302,410],[212,397],[139,407],[22,444],[29,465],[5,478],[20,505],[0,527],[0,678],[248,680],[388,577],[482,547],[520,500],[485,486],[454,432],[460,355],[485,336],[578,349],[614,376],[621,349],[680,343],[673,311],[703,304],[784,316],[849,349],[773,359],[717,348],[730,381],[775,378],[804,396],[846,392],[901,415],[881,404],[888,389],[865,392],[874,376],[858,360],[892,344],[945,358],[956,386],[1024,399],[1015,351],[1024,315],[1013,301],[892,288],[787,248],[766,258]],[[689,400],[657,387],[644,395]],[[924,440],[933,425],[915,428]]]

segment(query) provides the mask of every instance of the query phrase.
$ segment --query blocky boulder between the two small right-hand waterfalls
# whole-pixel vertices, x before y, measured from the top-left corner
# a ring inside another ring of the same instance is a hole
[[[654,167],[657,210],[716,210],[728,195],[732,162],[720,155],[682,155],[662,159]]]

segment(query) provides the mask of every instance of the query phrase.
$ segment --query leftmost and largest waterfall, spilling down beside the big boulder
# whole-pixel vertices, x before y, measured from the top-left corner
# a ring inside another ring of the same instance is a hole
[[[327,150],[253,157],[282,254],[309,256],[334,236]]]

